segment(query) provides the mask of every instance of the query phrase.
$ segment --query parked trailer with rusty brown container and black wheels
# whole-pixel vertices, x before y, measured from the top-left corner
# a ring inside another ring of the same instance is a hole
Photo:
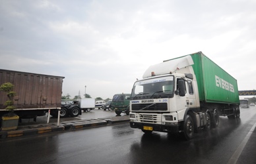
[[[16,96],[14,97],[15,114],[21,119],[34,118],[46,115],[47,112],[57,116],[61,108],[61,94],[63,79],[65,77],[55,75],[44,75],[39,73],[18,72],[13,70],[0,69],[0,85],[10,82],[14,87]],[[0,116],[8,113],[5,102],[7,101],[5,92],[0,92]],[[81,114],[80,110],[69,110],[68,115],[75,116]]]

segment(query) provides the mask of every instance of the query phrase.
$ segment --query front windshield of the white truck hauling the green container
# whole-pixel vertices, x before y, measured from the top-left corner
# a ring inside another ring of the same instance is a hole
[[[165,76],[137,81],[133,85],[131,99],[167,98],[174,96],[174,77]]]

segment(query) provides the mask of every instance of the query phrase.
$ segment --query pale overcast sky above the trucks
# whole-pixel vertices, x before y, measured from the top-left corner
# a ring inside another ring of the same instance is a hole
[[[202,51],[256,89],[255,0],[0,0],[0,69],[63,76],[63,96],[130,93],[144,71]],[[86,87],[85,87],[86,86]]]

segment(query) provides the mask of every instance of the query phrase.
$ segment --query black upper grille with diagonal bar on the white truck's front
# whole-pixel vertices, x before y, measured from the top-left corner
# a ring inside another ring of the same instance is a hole
[[[156,103],[156,104],[132,104],[131,108],[133,111],[146,110],[146,111],[166,111],[167,103]]]

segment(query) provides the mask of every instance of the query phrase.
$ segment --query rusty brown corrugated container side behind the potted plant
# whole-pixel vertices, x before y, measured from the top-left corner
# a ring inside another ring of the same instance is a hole
[[[0,70],[0,85],[13,83],[17,109],[60,108],[65,77]],[[0,109],[5,109],[5,92],[0,92]]]

